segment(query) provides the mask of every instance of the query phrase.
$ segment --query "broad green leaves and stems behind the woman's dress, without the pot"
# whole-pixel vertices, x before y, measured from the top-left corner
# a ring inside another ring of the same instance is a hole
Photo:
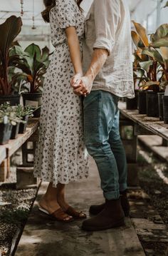
[[[30,83],[30,93],[42,91],[44,74],[50,62],[49,56],[47,47],[41,50],[35,43],[31,43],[24,51],[19,45],[12,48],[10,53],[11,65],[22,71],[20,76],[15,76],[15,79],[16,81],[22,79],[22,81]]]

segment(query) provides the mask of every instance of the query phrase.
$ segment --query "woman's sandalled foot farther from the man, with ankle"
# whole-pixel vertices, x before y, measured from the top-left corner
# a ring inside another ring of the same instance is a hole
[[[39,210],[51,215],[58,221],[70,222],[73,220],[72,216],[68,215],[61,209],[61,205],[59,205],[56,200],[46,200],[45,196],[43,196],[38,204]]]

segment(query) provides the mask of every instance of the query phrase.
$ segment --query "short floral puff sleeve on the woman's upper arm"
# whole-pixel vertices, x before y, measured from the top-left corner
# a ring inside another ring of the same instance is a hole
[[[73,0],[56,0],[56,16],[58,26],[66,29],[69,26],[76,26],[75,18],[75,1]]]

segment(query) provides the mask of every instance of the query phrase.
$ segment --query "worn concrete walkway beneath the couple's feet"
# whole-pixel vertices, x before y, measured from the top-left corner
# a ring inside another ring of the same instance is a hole
[[[88,215],[93,203],[102,203],[98,170],[90,160],[90,178],[70,183],[67,199],[70,205],[80,208]],[[42,183],[33,210],[23,230],[16,256],[143,256],[130,218],[125,227],[101,232],[85,232],[80,229],[81,221],[56,222],[38,211],[38,200],[45,193],[48,183]],[[89,217],[89,215],[88,215]]]

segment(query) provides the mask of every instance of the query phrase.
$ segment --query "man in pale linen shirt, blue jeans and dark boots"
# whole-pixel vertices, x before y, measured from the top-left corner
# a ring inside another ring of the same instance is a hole
[[[86,17],[83,71],[75,94],[83,101],[85,145],[98,166],[102,205],[91,205],[95,215],[84,230],[106,230],[124,225],[129,215],[127,163],[120,140],[119,97],[134,97],[130,12],[126,0],[94,0]]]

